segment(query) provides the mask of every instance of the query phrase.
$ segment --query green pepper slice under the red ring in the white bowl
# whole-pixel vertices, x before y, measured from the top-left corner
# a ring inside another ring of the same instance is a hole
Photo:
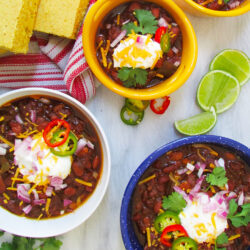
[[[57,133],[59,134],[60,131],[55,133],[52,140],[54,141],[57,140],[58,137]],[[72,132],[69,132],[69,136],[66,142],[63,145],[58,146],[56,148],[50,148],[50,151],[57,156],[70,156],[75,153],[77,149],[77,142],[78,142],[77,137]]]

